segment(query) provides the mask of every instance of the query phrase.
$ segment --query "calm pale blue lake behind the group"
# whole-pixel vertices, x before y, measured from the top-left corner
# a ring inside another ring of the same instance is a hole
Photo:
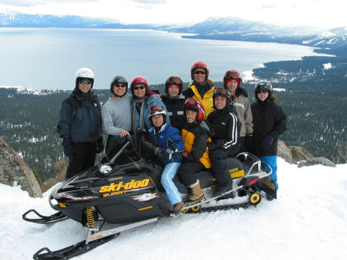
[[[230,68],[251,71],[264,62],[316,55],[307,46],[183,39],[181,33],[83,28],[0,28],[0,85],[73,89],[81,67],[94,71],[96,89],[107,89],[116,74],[128,81],[144,76],[164,83],[169,74],[190,81],[190,66],[204,60],[210,79]]]

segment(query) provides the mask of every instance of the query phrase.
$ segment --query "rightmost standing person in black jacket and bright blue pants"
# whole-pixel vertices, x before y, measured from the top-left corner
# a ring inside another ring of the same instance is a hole
[[[253,142],[249,151],[260,157],[272,168],[271,178],[277,182],[277,146],[278,136],[287,130],[287,116],[282,107],[277,105],[277,98],[273,94],[271,83],[262,80],[255,85],[254,95],[256,101],[252,103],[253,114]],[[267,166],[263,165],[266,170]],[[268,200],[273,198],[266,196]]]

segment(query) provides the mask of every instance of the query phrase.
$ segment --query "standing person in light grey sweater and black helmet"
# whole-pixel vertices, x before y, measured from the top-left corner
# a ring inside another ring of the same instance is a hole
[[[112,150],[122,137],[130,137],[131,130],[131,95],[127,94],[128,81],[124,76],[117,75],[112,78],[110,92],[113,96],[108,98],[102,108],[103,128],[108,134],[106,154]]]

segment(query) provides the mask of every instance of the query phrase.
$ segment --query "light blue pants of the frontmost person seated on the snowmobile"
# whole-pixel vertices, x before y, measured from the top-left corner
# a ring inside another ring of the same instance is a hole
[[[180,164],[181,164],[180,162],[171,162],[165,165],[164,170],[162,171],[162,177],[160,180],[162,182],[162,186],[167,192],[167,198],[169,198],[171,205],[174,205],[182,201],[180,193],[178,192],[176,185],[172,181],[172,179],[176,175],[178,168],[180,168]]]

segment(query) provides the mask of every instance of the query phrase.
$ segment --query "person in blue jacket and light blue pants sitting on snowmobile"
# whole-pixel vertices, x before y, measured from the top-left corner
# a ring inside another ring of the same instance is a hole
[[[183,201],[173,178],[182,163],[180,152],[185,148],[185,144],[180,136],[180,131],[167,123],[167,112],[162,106],[151,107],[148,118],[153,125],[149,129],[149,141],[156,147],[155,155],[164,164],[161,183],[173,205],[172,214],[178,215],[183,209]]]

